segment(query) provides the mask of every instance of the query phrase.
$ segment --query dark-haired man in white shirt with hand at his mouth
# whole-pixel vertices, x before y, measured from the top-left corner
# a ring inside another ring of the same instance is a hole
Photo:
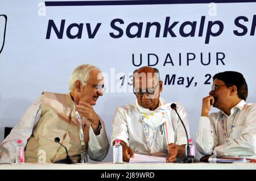
[[[203,99],[197,149],[217,157],[254,157],[256,153],[256,104],[246,104],[243,75],[225,71],[213,77],[212,91]],[[220,109],[211,113],[211,105]]]

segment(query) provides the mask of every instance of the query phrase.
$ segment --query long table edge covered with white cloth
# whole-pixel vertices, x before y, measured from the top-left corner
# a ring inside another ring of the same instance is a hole
[[[0,170],[256,170],[256,163],[22,163],[1,164]]]

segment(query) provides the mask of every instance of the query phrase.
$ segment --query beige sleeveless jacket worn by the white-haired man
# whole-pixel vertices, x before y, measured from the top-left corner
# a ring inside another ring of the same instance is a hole
[[[101,121],[103,124],[103,121]],[[74,162],[78,162],[81,151],[80,124],[75,117],[74,106],[69,94],[43,92],[41,117],[35,125],[25,148],[25,161],[37,163],[38,153],[46,153],[46,162],[55,162],[66,157],[65,149],[57,144],[55,137],[65,145]],[[84,128],[84,142],[89,141],[89,121]]]

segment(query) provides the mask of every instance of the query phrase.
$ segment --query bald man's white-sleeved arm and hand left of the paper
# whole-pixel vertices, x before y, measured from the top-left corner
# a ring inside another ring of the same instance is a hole
[[[127,129],[126,113],[122,107],[118,107],[114,120],[113,120],[113,133],[111,137],[112,145],[114,145],[115,140],[121,140],[121,145],[123,146],[123,161],[129,162],[130,157],[134,157],[133,150],[129,147],[128,138],[129,133]]]

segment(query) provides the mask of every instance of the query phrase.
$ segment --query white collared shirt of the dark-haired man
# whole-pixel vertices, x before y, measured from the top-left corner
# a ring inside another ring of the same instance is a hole
[[[218,157],[255,156],[256,104],[246,104],[241,100],[230,112],[229,116],[220,111],[211,113],[209,117],[200,117],[196,146],[201,154],[212,154],[214,149]],[[228,135],[228,144],[225,143],[224,132]]]

